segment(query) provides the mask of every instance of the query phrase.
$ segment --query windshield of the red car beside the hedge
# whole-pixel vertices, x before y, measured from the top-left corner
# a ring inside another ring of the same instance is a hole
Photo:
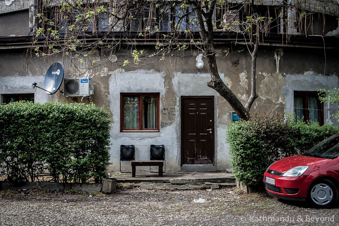
[[[339,156],[339,134],[324,140],[303,155],[323,159],[337,158]]]

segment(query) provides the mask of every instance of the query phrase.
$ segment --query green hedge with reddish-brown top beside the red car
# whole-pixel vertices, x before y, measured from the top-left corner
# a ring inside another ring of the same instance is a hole
[[[226,142],[234,177],[244,185],[258,185],[273,162],[303,153],[336,133],[339,126],[308,125],[279,114],[256,115],[250,121],[230,123]]]

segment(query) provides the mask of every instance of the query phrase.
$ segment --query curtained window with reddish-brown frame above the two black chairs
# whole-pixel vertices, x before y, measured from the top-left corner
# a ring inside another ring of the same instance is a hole
[[[121,132],[159,131],[159,93],[122,93]]]

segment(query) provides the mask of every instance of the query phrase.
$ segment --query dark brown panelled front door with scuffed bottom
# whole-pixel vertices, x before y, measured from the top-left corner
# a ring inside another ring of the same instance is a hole
[[[181,164],[214,164],[214,97],[181,97]]]

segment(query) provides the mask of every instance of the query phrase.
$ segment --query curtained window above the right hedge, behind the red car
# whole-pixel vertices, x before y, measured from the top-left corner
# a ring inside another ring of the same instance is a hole
[[[320,103],[318,92],[294,91],[294,114],[304,122],[324,124],[324,106]]]

